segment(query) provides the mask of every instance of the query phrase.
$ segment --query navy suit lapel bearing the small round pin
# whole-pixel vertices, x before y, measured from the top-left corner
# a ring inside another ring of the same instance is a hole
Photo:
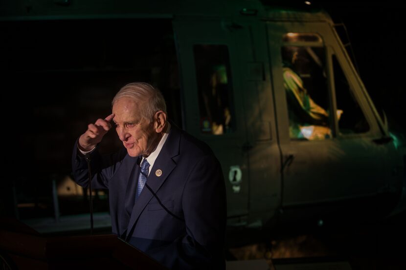
[[[172,170],[176,167],[176,163],[174,162],[173,157],[179,154],[179,140],[179,129],[175,125],[172,125],[168,138],[166,139],[166,142],[163,145],[158,158],[155,161],[154,166],[151,168],[151,172],[147,178],[146,184],[151,187],[151,189],[155,193],[158,192],[158,189],[163,185]],[[161,170],[160,176],[158,176],[159,173],[157,173],[157,170]],[[138,172],[139,174],[139,166],[136,169],[136,172]],[[144,187],[142,189],[141,194],[135,202],[134,208],[131,213],[130,222],[127,228],[127,241],[132,235],[140,214],[153,197],[154,195],[151,193],[150,190],[148,190],[147,187]]]

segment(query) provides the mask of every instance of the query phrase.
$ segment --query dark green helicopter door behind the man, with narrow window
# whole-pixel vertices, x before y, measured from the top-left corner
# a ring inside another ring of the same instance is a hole
[[[183,128],[206,142],[226,181],[227,216],[248,214],[248,151],[239,55],[231,23],[177,17]],[[210,194],[207,194],[210,196]]]

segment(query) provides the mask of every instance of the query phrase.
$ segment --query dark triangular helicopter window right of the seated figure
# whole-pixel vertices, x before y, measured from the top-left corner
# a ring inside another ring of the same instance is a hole
[[[342,112],[338,122],[339,133],[353,134],[367,132],[369,130],[368,122],[335,55],[333,55],[333,70],[337,108]]]

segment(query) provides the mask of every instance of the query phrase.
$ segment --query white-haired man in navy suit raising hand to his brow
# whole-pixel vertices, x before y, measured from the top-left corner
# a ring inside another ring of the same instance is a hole
[[[112,230],[172,269],[224,269],[226,191],[211,149],[167,121],[165,101],[147,83],[129,83],[113,113],[88,125],[73,150],[75,181],[108,188]],[[97,144],[114,122],[124,147],[102,156]]]

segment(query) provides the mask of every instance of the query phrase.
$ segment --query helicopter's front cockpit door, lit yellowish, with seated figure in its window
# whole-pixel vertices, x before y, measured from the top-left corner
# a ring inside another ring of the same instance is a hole
[[[270,22],[285,208],[382,191],[385,145],[354,68],[327,23]],[[337,52],[337,53],[336,53]]]

